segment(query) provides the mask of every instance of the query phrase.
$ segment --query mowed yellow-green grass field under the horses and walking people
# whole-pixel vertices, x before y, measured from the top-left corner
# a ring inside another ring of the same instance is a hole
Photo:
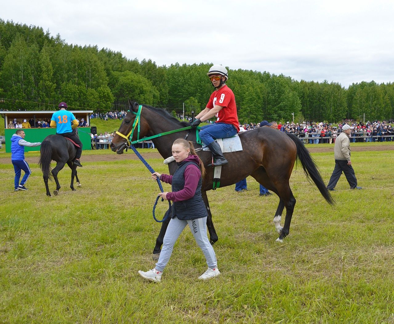
[[[84,154],[106,151],[97,152]],[[162,282],[139,276],[154,267],[160,230],[159,189],[140,161],[84,162],[76,192],[65,168],[52,198],[37,164],[29,191],[15,193],[13,167],[3,163],[0,323],[394,323],[393,153],[353,152],[363,190],[342,176],[334,207],[295,168],[283,244],[272,223],[278,198],[259,197],[253,178],[243,193],[210,191],[222,274],[206,282],[197,280],[206,263],[187,228]],[[327,183],[333,154],[312,156]],[[147,161],[167,172],[162,159]]]

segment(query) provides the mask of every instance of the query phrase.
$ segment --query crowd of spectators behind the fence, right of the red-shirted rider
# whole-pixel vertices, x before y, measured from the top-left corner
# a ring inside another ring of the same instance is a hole
[[[355,142],[385,142],[394,141],[394,129],[392,127],[393,121],[382,122],[375,120],[373,122],[355,122],[354,120],[344,120],[340,122],[337,126],[331,123],[323,122],[286,122],[279,123],[278,130],[285,133],[292,133],[297,135],[297,137],[303,139],[305,144],[319,144],[319,143],[335,143],[335,138],[338,133],[341,132],[342,126],[344,124],[349,124],[349,126],[354,126],[351,130],[350,141]],[[243,124],[242,126],[246,131],[259,128],[260,124],[250,123]]]

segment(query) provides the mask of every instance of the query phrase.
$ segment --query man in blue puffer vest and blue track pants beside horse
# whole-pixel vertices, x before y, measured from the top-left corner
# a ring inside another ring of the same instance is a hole
[[[29,178],[32,171],[30,171],[28,163],[24,159],[24,146],[39,146],[41,142],[37,143],[30,143],[24,140],[26,134],[23,130],[17,130],[14,135],[11,137],[11,162],[14,166],[15,170],[15,191],[19,190],[28,190],[24,184],[26,183],[27,179]],[[25,172],[22,181],[20,181],[20,170]]]

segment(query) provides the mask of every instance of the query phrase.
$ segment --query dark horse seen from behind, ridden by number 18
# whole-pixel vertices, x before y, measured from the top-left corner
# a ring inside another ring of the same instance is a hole
[[[41,143],[40,153],[41,155],[39,159],[39,165],[43,171],[47,196],[52,196],[48,188],[48,179],[52,178],[51,174],[56,182],[56,190],[53,192],[53,194],[55,196],[58,195],[60,189],[58,173],[66,163],[71,168],[71,190],[75,191],[74,177],[76,178],[77,187],[81,186],[76,172],[77,166],[72,163],[76,154],[76,147],[74,144],[61,135],[48,135]],[[56,167],[54,167],[53,170],[51,170],[50,167],[50,162],[52,160],[56,161]]]

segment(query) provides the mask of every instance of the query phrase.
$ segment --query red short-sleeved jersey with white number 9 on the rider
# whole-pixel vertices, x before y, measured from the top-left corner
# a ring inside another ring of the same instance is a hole
[[[216,122],[222,122],[225,124],[232,124],[237,129],[237,133],[240,132],[240,123],[238,122],[237,106],[235,104],[235,96],[231,89],[224,85],[219,90],[215,90],[206,104],[208,109],[212,109],[215,106],[222,106],[217,114]]]

